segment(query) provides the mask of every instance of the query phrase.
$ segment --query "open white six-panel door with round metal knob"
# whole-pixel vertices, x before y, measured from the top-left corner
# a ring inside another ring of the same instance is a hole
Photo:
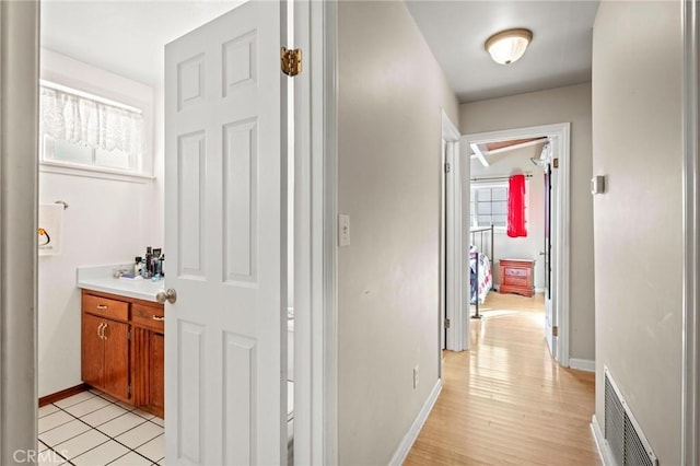
[[[287,461],[283,26],[252,1],[165,49],[168,465]]]

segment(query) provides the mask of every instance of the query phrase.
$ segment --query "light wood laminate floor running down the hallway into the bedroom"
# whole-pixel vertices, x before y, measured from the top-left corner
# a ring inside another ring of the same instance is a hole
[[[405,465],[599,465],[593,373],[560,368],[544,299],[489,293],[472,349],[444,352],[443,389]]]

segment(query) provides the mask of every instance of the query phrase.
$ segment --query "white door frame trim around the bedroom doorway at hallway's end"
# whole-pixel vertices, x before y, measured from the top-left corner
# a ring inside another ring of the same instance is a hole
[[[569,322],[571,303],[569,302],[570,291],[570,263],[571,263],[571,218],[570,218],[570,153],[571,153],[571,124],[559,123],[552,125],[532,126],[526,128],[514,128],[499,131],[478,132],[472,135],[465,135],[462,137],[462,151],[459,163],[465,167],[465,180],[468,180],[470,174],[469,155],[468,150],[471,143],[486,143],[494,142],[504,139],[526,139],[537,136],[549,136],[557,138],[560,141],[559,145],[559,175],[557,179],[557,234],[556,247],[557,260],[556,260],[556,277],[557,277],[557,293],[555,296],[557,324],[559,326],[559,338],[557,338],[557,360],[559,364],[569,366]],[[469,183],[459,183],[463,186],[456,187],[456,189],[463,190],[463,202],[466,199],[466,206],[469,205]],[[465,206],[465,203],[463,203]],[[462,209],[460,209],[462,210]],[[469,237],[468,230],[462,236],[462,256],[468,257]],[[466,260],[466,259],[465,259]],[[491,258],[491,263],[494,264],[494,259]],[[464,281],[463,273],[466,275],[468,264],[458,270],[460,282]],[[462,303],[460,312],[457,314],[458,319],[456,324],[463,331],[463,340],[465,346],[462,349],[469,349],[469,305],[468,302]]]

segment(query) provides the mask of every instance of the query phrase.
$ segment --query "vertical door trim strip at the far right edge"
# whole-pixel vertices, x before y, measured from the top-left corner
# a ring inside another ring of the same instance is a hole
[[[681,364],[681,464],[700,461],[700,314],[698,312],[698,255],[700,245],[700,211],[698,179],[700,178],[700,9],[697,1],[684,1],[681,7],[682,55],[682,364]]]

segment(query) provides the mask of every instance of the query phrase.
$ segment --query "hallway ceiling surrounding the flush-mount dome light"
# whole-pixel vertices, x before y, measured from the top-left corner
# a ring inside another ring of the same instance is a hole
[[[459,102],[591,81],[597,0],[409,0],[407,5]],[[515,63],[498,65],[483,43],[513,27],[530,30],[533,42]]]

